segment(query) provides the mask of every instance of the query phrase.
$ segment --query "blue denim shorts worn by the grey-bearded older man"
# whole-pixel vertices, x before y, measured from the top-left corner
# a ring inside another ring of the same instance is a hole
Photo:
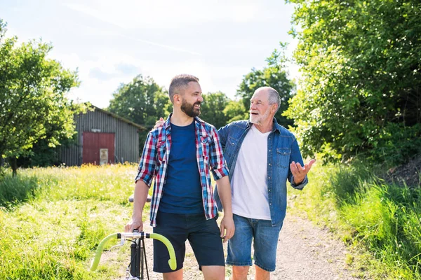
[[[276,247],[282,225],[272,226],[272,221],[233,215],[235,233],[228,241],[227,265],[248,266],[251,261],[253,241],[255,265],[268,272],[276,266]]]

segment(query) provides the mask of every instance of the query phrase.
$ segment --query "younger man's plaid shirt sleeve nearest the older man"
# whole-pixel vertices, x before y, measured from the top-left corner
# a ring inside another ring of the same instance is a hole
[[[211,128],[210,132],[210,167],[213,174],[213,179],[219,180],[222,177],[229,175],[229,170],[227,167],[227,162],[225,162],[224,155],[222,153],[222,146],[220,139],[218,137],[218,132],[216,132],[215,127]]]

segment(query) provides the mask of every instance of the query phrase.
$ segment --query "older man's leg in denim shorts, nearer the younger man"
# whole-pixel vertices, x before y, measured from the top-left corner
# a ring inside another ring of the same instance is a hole
[[[233,216],[235,233],[228,241],[227,265],[232,265],[233,280],[247,280],[251,262],[251,241],[253,226],[251,219],[238,215]]]

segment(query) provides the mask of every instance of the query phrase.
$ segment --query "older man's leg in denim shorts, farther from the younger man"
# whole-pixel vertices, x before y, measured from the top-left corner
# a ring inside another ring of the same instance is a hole
[[[276,248],[278,246],[279,232],[282,225],[272,226],[272,221],[258,221],[254,226],[254,260],[255,260],[255,279],[268,280],[270,272],[275,270],[276,266]]]

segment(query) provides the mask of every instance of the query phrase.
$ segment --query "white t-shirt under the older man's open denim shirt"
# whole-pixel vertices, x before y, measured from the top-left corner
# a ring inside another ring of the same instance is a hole
[[[254,125],[241,144],[232,174],[232,212],[246,218],[270,220],[267,198],[267,137]]]

